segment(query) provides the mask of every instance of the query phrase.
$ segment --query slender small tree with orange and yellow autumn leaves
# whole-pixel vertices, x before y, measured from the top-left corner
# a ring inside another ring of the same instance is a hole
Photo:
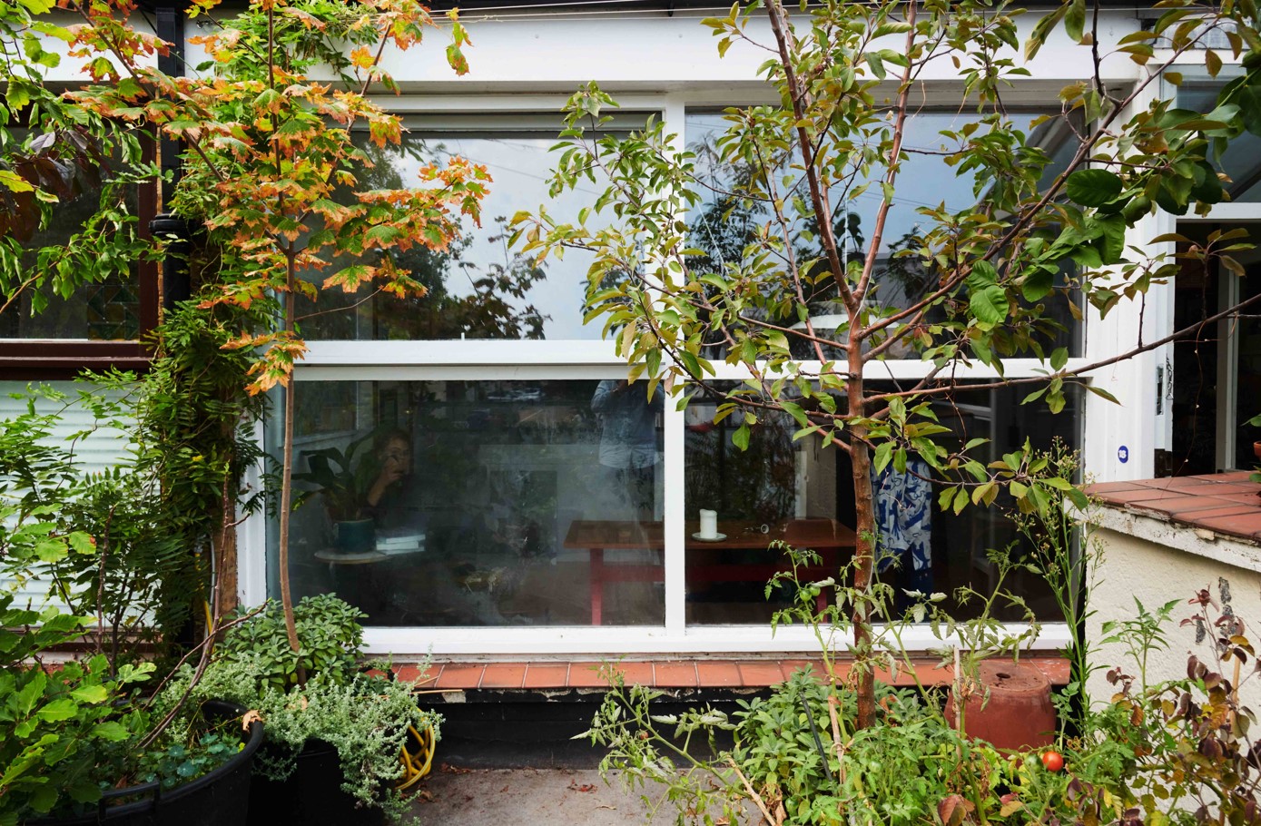
[[[194,39],[212,58],[200,71],[213,69],[198,77],[173,77],[150,64],[169,44],[130,25],[134,6],[127,0],[62,5],[83,18],[86,25],[71,32],[71,54],[84,61],[92,79],[68,98],[185,148],[170,206],[204,226],[213,253],[203,269],[200,306],[252,309],[262,318],[224,346],[256,353],[251,395],[288,385],[305,351],[296,296],[315,300],[322,290],[356,293],[368,284],[400,298],[422,295],[424,286],[393,253],[443,251],[458,236],[463,216],[478,218],[488,175],[460,158],[422,166],[416,188],[356,189],[372,164],[353,130],[363,129],[378,148],[400,141],[400,119],[368,93],[396,91],[382,59],[420,43],[424,29],[434,25],[419,3],[260,0],[228,19],[211,16],[216,0],[197,3],[193,13],[218,26]],[[464,72],[460,47],[468,38],[455,14],[449,16],[448,59]],[[311,71],[332,72],[335,79],[311,79]],[[290,391],[284,402],[279,564],[289,641],[298,651],[289,589],[293,435]],[[221,566],[235,567],[235,559]]]

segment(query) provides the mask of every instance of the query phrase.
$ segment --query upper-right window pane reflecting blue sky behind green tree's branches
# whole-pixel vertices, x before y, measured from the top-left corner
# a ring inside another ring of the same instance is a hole
[[[950,212],[960,212],[984,199],[984,192],[976,194],[979,183],[975,173],[960,174],[956,166],[946,163],[946,155],[958,146],[958,140],[942,134],[958,131],[977,120],[976,113],[955,112],[918,112],[908,120],[903,143],[907,156],[898,173],[897,199],[889,209],[875,265],[873,282],[878,286],[869,294],[866,301],[873,311],[905,309],[937,289],[938,275],[928,270],[918,257],[908,257],[903,252],[919,246],[919,228],[932,221],[918,212],[921,208],[944,206]],[[1028,140],[1030,146],[1038,146],[1045,153],[1043,180],[1044,183],[1052,180],[1063,170],[1077,145],[1069,122],[1061,116],[1045,117],[1031,112],[1015,113],[1011,120],[1016,129],[1030,135]],[[1039,122],[1035,125],[1035,121]],[[697,177],[702,184],[701,202],[689,217],[689,240],[694,247],[706,253],[707,260],[701,259],[700,266],[715,271],[739,262],[747,245],[754,242],[760,227],[772,224],[772,235],[779,233],[772,221],[773,214],[765,204],[726,194],[739,190],[749,180],[748,168],[725,166],[715,159],[715,141],[729,125],[730,122],[719,113],[689,112],[686,119],[687,145],[696,153]],[[798,168],[798,158],[782,164],[783,180],[778,182],[782,185],[781,194],[794,190],[793,194],[805,197],[805,184],[798,180],[799,174],[794,172]],[[879,165],[873,169],[883,172]],[[850,172],[852,170],[846,170]],[[857,192],[864,185],[868,187],[865,190],[852,199],[849,198],[850,192]],[[787,195],[784,197],[787,199]],[[879,182],[857,173],[849,178],[849,185],[834,184],[834,231],[841,246],[842,264],[866,253],[881,198]],[[789,231],[797,259],[799,261],[816,259],[820,248],[815,241],[817,227],[813,226],[813,219],[794,212],[791,199],[786,203],[786,217],[791,222]],[[1072,320],[1069,299],[1064,289],[1069,284],[1071,275],[1069,271],[1062,272],[1057,280],[1057,286],[1061,289],[1044,299],[1047,315],[1053,325],[1045,330],[1048,335],[1042,340],[1049,338],[1053,342],[1052,347],[1066,346],[1071,354],[1077,354],[1081,348],[1081,335],[1076,328],[1079,325]],[[816,330],[825,335],[835,335],[844,342],[844,329],[836,330],[837,325],[845,323],[845,310],[837,300],[835,285],[827,279],[813,289],[815,293],[807,295],[807,300]],[[1076,296],[1076,293],[1073,295]],[[929,322],[939,318],[942,318],[941,308],[931,310]],[[805,328],[796,315],[786,322],[796,328]],[[812,347],[803,347],[796,354],[799,358],[815,358]],[[889,356],[905,358],[913,353],[909,347],[899,346],[893,348]],[[844,358],[844,353],[832,349],[826,357]]]

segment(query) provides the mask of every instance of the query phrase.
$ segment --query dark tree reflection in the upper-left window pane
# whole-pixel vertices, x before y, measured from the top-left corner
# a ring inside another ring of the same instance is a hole
[[[412,165],[429,163],[445,154],[441,145],[404,140],[400,146],[383,149],[357,141],[364,154],[364,169],[358,189],[396,189],[405,184],[404,173]],[[344,193],[348,199],[349,193]],[[343,198],[338,198],[340,202]],[[497,217],[501,232],[485,240],[497,243],[503,238],[504,218]],[[427,293],[419,298],[398,299],[381,295],[366,285],[358,293],[322,295],[318,306],[306,300],[299,305],[304,333],[311,338],[330,339],[446,339],[446,338],[543,338],[543,323],[550,317],[526,301],[530,290],[547,277],[541,266],[504,248],[503,262],[479,264],[464,260],[473,246],[465,236],[445,252],[416,246],[407,251],[391,250],[393,264],[411,272]],[[377,252],[376,255],[381,255]],[[349,264],[348,259],[329,262],[334,271]],[[468,279],[467,295],[453,290],[451,279],[462,274]],[[323,277],[311,274],[310,277]],[[344,310],[344,311],[334,311]],[[351,311],[353,310],[353,311]]]

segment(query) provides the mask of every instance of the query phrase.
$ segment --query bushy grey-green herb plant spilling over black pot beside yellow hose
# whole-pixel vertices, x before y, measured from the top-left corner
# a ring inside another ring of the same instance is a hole
[[[337,752],[346,797],[327,803],[335,811],[308,810],[315,817],[308,822],[348,822],[364,806],[401,816],[405,803],[393,784],[402,777],[398,755],[409,726],[431,730],[436,738],[440,718],[417,707],[412,683],[362,672],[358,620],[364,615],[358,609],[323,594],[300,600],[294,617],[304,641],[300,654],[289,647],[280,607],[269,603],[224,634],[192,696],[223,696],[259,710],[267,724],[269,747],[253,796],[282,801],[275,806],[286,817],[304,806],[304,758],[320,744]],[[299,666],[308,676],[305,685],[298,681]],[[192,668],[185,667],[164,696],[188,691],[192,677]],[[269,822],[266,811],[251,808],[251,818]]]

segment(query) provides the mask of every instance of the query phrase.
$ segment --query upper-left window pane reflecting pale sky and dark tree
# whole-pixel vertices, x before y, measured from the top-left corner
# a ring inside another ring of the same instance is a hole
[[[557,124],[538,131],[412,131],[401,146],[382,150],[358,139],[375,166],[361,188],[397,188],[417,182],[424,164],[445,164],[459,155],[487,166],[492,183],[482,204],[482,226],[465,219],[463,238],[445,252],[414,248],[392,253],[429,294],[400,300],[375,295],[368,286],[357,294],[337,290],[318,304],[299,300],[303,333],[310,339],[598,339],[599,322],[583,324],[586,270],[590,257],[570,251],[564,260],[533,267],[508,250],[506,226],[518,211],[537,211],[542,203],[557,221],[575,221],[594,202],[603,183],[586,183],[578,192],[551,197],[549,151],[556,144]],[[603,179],[601,179],[603,180]],[[332,269],[348,261],[333,261]],[[324,272],[306,277],[320,281]]]

